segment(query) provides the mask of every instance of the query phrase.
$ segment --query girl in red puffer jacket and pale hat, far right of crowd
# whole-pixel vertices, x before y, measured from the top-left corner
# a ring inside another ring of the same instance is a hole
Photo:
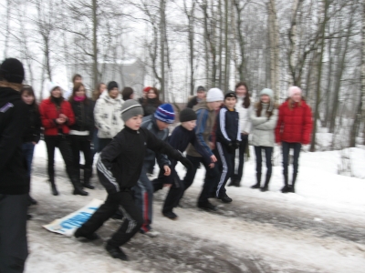
[[[297,167],[300,148],[308,145],[312,131],[312,112],[302,98],[302,90],[297,86],[288,89],[288,98],[279,107],[279,117],[276,125],[276,143],[283,147],[283,174],[285,186],[281,192],[295,192]],[[293,180],[288,184],[287,166],[290,148],[294,149]]]

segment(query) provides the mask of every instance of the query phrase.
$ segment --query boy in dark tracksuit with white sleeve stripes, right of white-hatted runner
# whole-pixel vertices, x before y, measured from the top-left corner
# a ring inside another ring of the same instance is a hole
[[[216,128],[215,154],[221,167],[221,177],[216,189],[216,197],[224,203],[232,202],[232,198],[225,193],[225,184],[235,171],[235,149],[241,142],[239,116],[235,111],[237,96],[235,92],[228,92],[224,96],[224,107],[219,110]]]

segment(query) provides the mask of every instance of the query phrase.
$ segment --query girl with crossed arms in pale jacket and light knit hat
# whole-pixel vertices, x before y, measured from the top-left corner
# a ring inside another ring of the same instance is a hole
[[[252,144],[255,147],[256,178],[257,182],[252,188],[260,188],[262,170],[262,151],[266,156],[266,180],[261,191],[268,190],[272,173],[272,155],[275,145],[275,127],[277,122],[277,107],[274,103],[274,92],[265,88],[260,92],[260,101],[255,105],[251,113],[253,124]]]

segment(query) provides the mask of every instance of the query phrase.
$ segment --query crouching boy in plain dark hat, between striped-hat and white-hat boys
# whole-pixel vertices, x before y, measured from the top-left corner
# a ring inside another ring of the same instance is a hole
[[[185,108],[180,112],[181,126],[177,126],[172,135],[169,136],[168,143],[180,152],[184,152],[189,143],[195,147],[195,149],[203,155],[203,159],[209,165],[211,163],[210,150],[207,147],[199,145],[196,139],[194,128],[196,126],[196,113],[191,108]],[[176,173],[175,167],[177,161],[171,159],[171,171],[172,174],[168,177],[164,176],[164,171],[160,171],[158,178],[152,181],[154,191],[162,189],[166,185],[170,185],[169,193],[165,199],[162,207],[162,214],[172,220],[177,218],[177,215],[173,213],[173,207],[176,207],[179,203],[180,198],[183,196],[183,181]]]

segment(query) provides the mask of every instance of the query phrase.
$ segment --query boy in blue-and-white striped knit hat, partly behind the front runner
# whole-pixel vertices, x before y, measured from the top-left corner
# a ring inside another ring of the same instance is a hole
[[[169,129],[167,128],[175,120],[175,112],[171,104],[163,104],[159,106],[153,115],[143,117],[141,127],[149,130],[154,136],[166,141],[169,136]],[[150,149],[147,150],[144,157],[141,176],[134,190],[134,197],[137,206],[141,208],[143,214],[143,224],[141,226],[141,233],[150,237],[156,237],[159,232],[151,228],[152,222],[152,199],[153,199],[153,185],[147,171],[154,166],[155,161],[159,164],[160,169],[164,170],[165,176],[170,176],[170,161],[162,154],[157,154]]]

